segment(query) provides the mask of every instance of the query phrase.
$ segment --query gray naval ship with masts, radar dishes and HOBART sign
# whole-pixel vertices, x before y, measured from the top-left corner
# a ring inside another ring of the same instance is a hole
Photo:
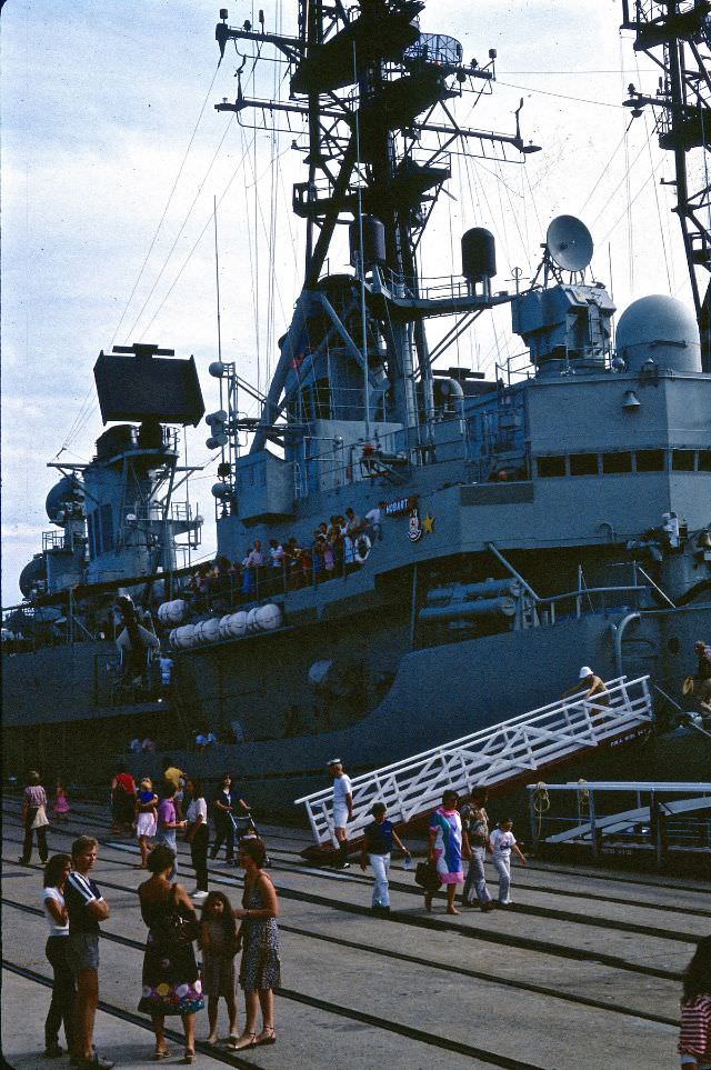
[[[419,0],[298,8],[294,37],[233,28],[226,10],[216,33],[222,56],[234,43],[288,68],[286,99],[247,96],[238,71],[236,101],[216,107],[303,123],[308,178],[293,189],[303,288],[267,394],[221,353],[210,366],[214,567],[180,558],[202,522],[176,501],[178,428],[203,416],[194,364],[150,346],[102,353],[113,426],[91,463],[61,467],[54,533],[6,614],[6,770],[98,781],[119,757],[158,774],[170,756],[286,807],[334,754],[351,771],[404,759],[551,702],[588,664],[649,674],[658,719],[585,776],[707,776],[710,737],[672,729],[711,633],[711,233],[691,178],[711,130],[710,6],[623,4],[662,70],[657,96],[632,86],[625,104],[653,111],[674,159],[695,307],[634,301],[614,342],[573,217],[550,223],[525,289],[494,289],[483,227],[462,236],[461,271],[421,277],[450,153],[524,163],[537,149],[518,113],[507,134],[453,118],[494,82],[495,52],[467,64],[454,38],[420,31]],[[491,380],[448,367],[499,304],[525,361]],[[216,742],[196,750],[198,732]],[[129,753],[144,738],[157,751]]]

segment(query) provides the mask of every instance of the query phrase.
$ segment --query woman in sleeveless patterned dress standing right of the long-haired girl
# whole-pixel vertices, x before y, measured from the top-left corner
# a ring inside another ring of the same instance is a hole
[[[242,910],[233,911],[242,922],[237,934],[242,947],[240,984],[244,989],[244,1032],[232,1048],[254,1048],[277,1042],[274,1033],[274,988],[281,984],[279,962],[279,901],[269,874],[262,869],[267,848],[257,837],[240,843],[239,864],[244,869]],[[257,1033],[257,1011],[261,1007],[262,1031]]]

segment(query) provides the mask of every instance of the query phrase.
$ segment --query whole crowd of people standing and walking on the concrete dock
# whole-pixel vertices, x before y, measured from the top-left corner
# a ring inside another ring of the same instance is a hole
[[[354,818],[352,782],[340,758],[331,759],[328,764],[338,843],[336,864],[348,869],[348,824]],[[206,1006],[204,1043],[217,1044],[220,1001],[224,1002],[228,1019],[228,1032],[223,1037],[227,1049],[237,1051],[276,1043],[274,989],[281,983],[279,900],[267,872],[267,847],[254,826],[244,793],[232,777],[224,773],[208,802],[201,782],[168,760],[162,781],[156,788],[148,778],[137,784],[126,767],[119,766],[111,782],[111,800],[112,834],[131,834],[131,831],[136,834],[140,868],[150,874],[138,889],[141,918],[148,929],[138,1009],[151,1018],[156,1038],[153,1059],[162,1060],[171,1054],[166,1019],[179,1018],[184,1034],[181,1062],[194,1061],[197,1016]],[[512,904],[511,856],[521,864],[525,864],[525,857],[513,834],[511,818],[502,817],[492,827],[487,804],[488,792],[483,787],[474,788],[465,799],[448,789],[441,804],[430,814],[427,856],[415,874],[428,911],[432,909],[435,892],[443,886],[447,912],[458,914],[457,893],[462,884],[462,907],[479,906],[484,913],[492,910],[494,902],[484,870],[487,854],[491,856],[498,876],[498,904],[501,908]],[[48,858],[48,806],[39,773],[32,770],[22,798],[24,840],[20,861],[29,864],[36,833],[44,863],[46,954],[53,972],[44,1024],[44,1053],[48,1058],[63,1054],[59,1036],[63,1026],[74,1070],[111,1070],[111,1060],[99,1054],[93,1044],[100,926],[110,917],[109,904],[92,877],[98,840],[80,836],[72,843],[70,854]],[[70,809],[67,789],[58,781],[54,812],[66,819]],[[364,871],[370,864],[373,872],[373,917],[388,918],[393,849],[404,856],[405,869],[411,869],[413,862],[411,852],[388,819],[384,802],[375,802],[370,813],[372,821],[362,833],[360,866]],[[178,882],[178,834],[182,834],[190,847],[196,874],[196,888],[191,892]],[[239,907],[222,891],[210,891],[208,887],[208,858],[214,861],[222,847],[226,862],[241,867],[244,873]],[[196,943],[201,962],[196,956]],[[238,983],[244,994],[241,1030]],[[711,1054],[711,938],[699,943],[684,974],[679,1052],[682,1066],[689,1067],[705,1066],[703,1060]]]

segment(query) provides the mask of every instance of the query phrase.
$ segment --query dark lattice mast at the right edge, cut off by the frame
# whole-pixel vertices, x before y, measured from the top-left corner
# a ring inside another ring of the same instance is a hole
[[[629,87],[632,116],[654,109],[660,148],[673,154],[679,217],[691,293],[701,334],[701,366],[711,372],[711,2],[622,0],[622,29],[634,50],[660,68],[654,97]],[[691,166],[693,164],[693,166]]]

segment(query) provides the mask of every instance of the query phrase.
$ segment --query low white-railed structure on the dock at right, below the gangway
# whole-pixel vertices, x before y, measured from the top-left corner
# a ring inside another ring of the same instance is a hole
[[[662,863],[670,847],[711,851],[711,783],[587,781],[527,784],[531,838],[549,848],[603,853],[652,850]]]

